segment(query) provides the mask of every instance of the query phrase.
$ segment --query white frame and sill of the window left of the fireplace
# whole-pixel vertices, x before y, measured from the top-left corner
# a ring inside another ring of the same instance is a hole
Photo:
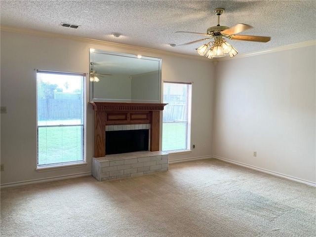
[[[43,74],[55,74],[55,75],[67,75],[67,76],[79,76],[82,77],[82,123],[80,124],[59,124],[59,125],[54,125],[54,126],[60,126],[60,127],[65,127],[65,126],[81,126],[82,127],[82,132],[81,132],[81,139],[82,139],[82,159],[80,160],[75,160],[75,161],[65,161],[65,162],[60,162],[60,163],[51,163],[51,164],[40,164],[39,165],[39,127],[48,127],[47,125],[39,125],[39,108],[38,108],[38,74],[43,73]],[[57,71],[47,71],[47,70],[36,70],[36,113],[37,113],[37,159],[36,159],[36,171],[38,172],[44,172],[44,171],[52,171],[52,170],[59,170],[59,169],[68,169],[68,168],[77,168],[81,166],[86,166],[86,74],[85,73],[68,73],[68,72],[57,72]]]

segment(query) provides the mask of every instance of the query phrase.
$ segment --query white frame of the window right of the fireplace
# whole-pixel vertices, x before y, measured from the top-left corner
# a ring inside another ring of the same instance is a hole
[[[193,82],[185,82],[185,81],[172,81],[172,80],[163,80],[163,84],[164,83],[173,83],[173,84],[187,84],[188,86],[188,92],[187,92],[187,134],[186,134],[186,148],[185,149],[176,149],[176,150],[163,150],[163,132],[162,132],[162,146],[161,146],[161,150],[164,152],[168,152],[169,154],[187,154],[189,152],[191,152],[191,114],[192,114],[192,86],[193,86]],[[162,92],[162,98],[164,97],[164,91]],[[163,103],[165,103],[165,101],[162,99]],[[166,105],[168,106],[168,105]],[[164,111],[163,111],[164,112]],[[163,113],[162,112],[162,113]],[[181,121],[183,122],[183,121]],[[163,115],[162,115],[162,131],[163,131],[163,124],[166,123],[163,121]]]

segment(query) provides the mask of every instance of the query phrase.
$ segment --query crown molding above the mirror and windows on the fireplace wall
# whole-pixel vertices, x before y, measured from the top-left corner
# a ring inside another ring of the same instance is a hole
[[[19,34],[25,34],[25,35],[32,35],[32,36],[40,36],[40,37],[45,37],[45,38],[74,40],[77,42],[99,44],[99,45],[103,45],[103,46],[114,47],[114,48],[118,48],[118,49],[133,50],[133,51],[137,51],[137,52],[161,54],[161,55],[166,55],[166,56],[195,59],[195,60],[202,60],[202,61],[207,60],[206,58],[203,58],[203,57],[200,57],[197,55],[187,55],[187,54],[182,54],[182,53],[174,53],[174,52],[163,51],[163,50],[153,49],[153,48],[132,46],[132,45],[128,45],[128,44],[108,42],[108,41],[104,41],[104,40],[93,40],[93,39],[88,39],[88,38],[83,38],[83,37],[78,37],[78,36],[63,35],[63,34],[37,31],[37,30],[31,30],[31,29],[26,29],[26,28],[17,28],[17,27],[5,26],[5,25],[0,25],[0,31],[10,32],[10,33],[19,33]]]

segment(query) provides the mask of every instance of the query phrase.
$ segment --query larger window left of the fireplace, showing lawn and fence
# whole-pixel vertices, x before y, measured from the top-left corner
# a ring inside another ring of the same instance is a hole
[[[37,71],[38,167],[84,162],[85,75]]]

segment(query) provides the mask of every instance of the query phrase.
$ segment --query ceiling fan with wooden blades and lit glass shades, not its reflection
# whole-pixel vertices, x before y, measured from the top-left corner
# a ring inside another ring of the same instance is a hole
[[[211,40],[206,44],[201,45],[197,48],[197,53],[201,56],[205,56],[209,59],[218,58],[218,57],[225,57],[225,54],[229,54],[230,57],[234,57],[237,55],[238,51],[229,44],[224,38],[230,40],[246,40],[246,41],[256,41],[256,42],[268,42],[271,40],[271,37],[267,36],[245,36],[245,35],[236,35],[240,32],[246,31],[252,26],[247,24],[237,24],[233,27],[221,26],[220,23],[220,15],[224,13],[224,8],[216,8],[214,10],[215,14],[217,15],[217,26],[209,27],[204,33],[197,33],[197,32],[187,32],[187,31],[177,31],[176,33],[189,33],[189,34],[198,34],[202,36],[206,36],[207,38],[201,40],[195,40],[192,42],[184,43],[184,44],[176,44],[176,43],[169,43],[170,46],[182,46],[197,43],[204,40]]]

